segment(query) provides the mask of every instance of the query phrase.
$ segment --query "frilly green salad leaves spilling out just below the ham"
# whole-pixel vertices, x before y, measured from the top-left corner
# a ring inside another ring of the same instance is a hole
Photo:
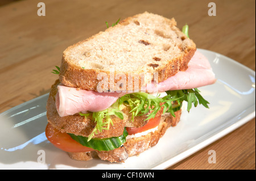
[[[108,130],[110,124],[113,125],[111,115],[123,119],[123,112],[121,106],[125,104],[130,107],[131,120],[134,120],[135,116],[147,115],[146,120],[154,118],[156,113],[163,108],[163,113],[170,112],[175,117],[175,111],[180,110],[182,103],[185,101],[188,103],[187,111],[189,112],[192,106],[196,107],[198,104],[202,104],[204,107],[209,108],[209,102],[200,95],[198,89],[187,89],[187,90],[173,90],[166,91],[167,95],[163,98],[159,98],[159,95],[154,96],[146,92],[135,92],[131,94],[123,95],[113,104],[112,107],[98,112],[92,113],[96,127],[93,132],[89,135],[88,141],[90,141],[95,134],[102,132],[102,130]],[[81,116],[89,116],[90,113],[82,114]]]

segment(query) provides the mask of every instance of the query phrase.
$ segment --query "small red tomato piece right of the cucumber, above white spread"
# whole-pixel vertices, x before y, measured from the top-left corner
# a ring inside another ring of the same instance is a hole
[[[134,128],[134,127],[127,128],[126,127],[126,130],[127,130],[128,134],[141,133],[143,131],[147,131],[148,129],[152,129],[152,128],[157,127],[159,125],[159,123],[160,123],[160,119],[161,119],[161,116],[154,117],[154,118],[148,120],[148,123],[145,124],[141,128]]]

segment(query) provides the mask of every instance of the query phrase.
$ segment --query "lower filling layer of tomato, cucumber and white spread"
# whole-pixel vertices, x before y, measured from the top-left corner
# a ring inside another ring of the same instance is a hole
[[[48,123],[46,137],[57,148],[67,152],[109,151],[119,148],[127,139],[144,136],[147,133],[156,131],[160,123],[160,117],[157,116],[150,119],[146,125],[140,128],[125,128],[123,134],[119,137],[92,138],[89,141],[88,137],[76,136],[71,133],[61,133]]]

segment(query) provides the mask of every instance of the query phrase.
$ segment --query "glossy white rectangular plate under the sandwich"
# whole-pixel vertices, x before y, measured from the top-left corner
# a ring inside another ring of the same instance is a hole
[[[46,94],[0,114],[0,169],[166,169],[255,117],[255,71],[221,54],[199,50],[217,78],[214,85],[200,88],[210,109],[184,111],[180,123],[153,148],[125,163],[69,158],[44,135]]]

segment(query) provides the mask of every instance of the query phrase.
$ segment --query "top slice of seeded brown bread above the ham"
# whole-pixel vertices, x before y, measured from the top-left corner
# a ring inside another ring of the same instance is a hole
[[[65,49],[60,81],[66,86],[98,91],[100,73],[114,83],[123,80],[124,75],[125,81],[114,87],[109,83],[108,91],[135,90],[131,86],[135,81],[141,88],[145,78],[147,82],[162,82],[185,71],[195,51],[195,43],[176,27],[174,18],[144,12]]]

